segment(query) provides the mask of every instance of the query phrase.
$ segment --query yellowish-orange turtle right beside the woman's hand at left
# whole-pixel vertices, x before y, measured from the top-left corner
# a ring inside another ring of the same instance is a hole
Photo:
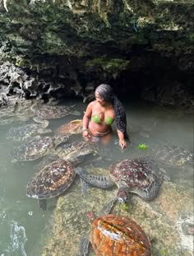
[[[82,119],[76,119],[76,120],[72,120],[67,124],[61,125],[56,132],[57,134],[63,134],[63,135],[82,133],[82,127],[83,127]]]

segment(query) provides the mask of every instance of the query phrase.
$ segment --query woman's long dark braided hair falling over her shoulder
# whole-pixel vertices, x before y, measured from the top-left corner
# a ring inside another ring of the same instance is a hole
[[[95,89],[95,92],[99,94],[100,98],[103,98],[105,101],[113,104],[116,127],[119,131],[124,133],[124,136],[127,139],[128,135],[126,112],[121,101],[118,100],[116,95],[114,95],[112,87],[107,84],[102,84]]]

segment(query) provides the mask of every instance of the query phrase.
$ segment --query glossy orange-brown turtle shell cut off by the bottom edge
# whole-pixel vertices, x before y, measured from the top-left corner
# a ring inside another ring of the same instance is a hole
[[[93,221],[90,241],[97,256],[150,256],[150,240],[127,216],[105,215]]]

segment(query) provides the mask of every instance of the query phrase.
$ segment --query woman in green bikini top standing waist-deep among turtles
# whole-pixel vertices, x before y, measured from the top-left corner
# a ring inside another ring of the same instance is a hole
[[[112,87],[102,84],[95,89],[95,100],[90,102],[83,118],[83,137],[101,137],[107,144],[113,134],[111,124],[116,121],[119,145],[127,147],[126,113],[118,97],[113,94]]]

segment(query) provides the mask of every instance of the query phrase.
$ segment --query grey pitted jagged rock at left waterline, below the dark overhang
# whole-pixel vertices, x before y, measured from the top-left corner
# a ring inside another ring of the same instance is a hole
[[[52,93],[63,87],[58,83],[54,85],[51,77],[47,79],[38,72],[30,72],[30,68],[17,67],[9,62],[0,65],[0,106],[17,105],[25,99],[48,101],[53,98]],[[66,94],[68,95],[68,90]],[[58,92],[55,98],[62,95]]]

